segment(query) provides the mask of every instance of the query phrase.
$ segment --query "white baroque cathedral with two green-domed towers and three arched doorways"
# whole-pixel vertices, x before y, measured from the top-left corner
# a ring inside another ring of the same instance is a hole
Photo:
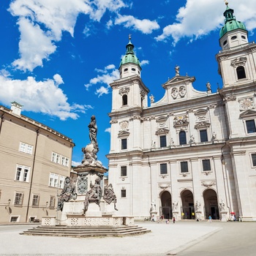
[[[176,67],[155,102],[129,38],[110,83],[108,179],[118,214],[256,221],[256,44],[233,12],[227,5],[219,33],[217,93],[209,83],[195,90]]]

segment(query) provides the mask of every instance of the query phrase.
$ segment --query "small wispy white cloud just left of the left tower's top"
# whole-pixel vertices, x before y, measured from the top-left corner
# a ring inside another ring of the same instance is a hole
[[[109,94],[109,84],[112,83],[113,80],[119,78],[118,69],[116,69],[115,65],[110,64],[106,66],[104,69],[95,69],[95,71],[99,73],[99,75],[97,75],[96,78],[91,78],[89,83],[84,85],[86,87],[86,90],[88,91],[89,88],[93,85],[103,83],[106,86],[100,86],[98,89],[96,89],[95,94],[97,94],[98,97],[102,96],[103,94]]]

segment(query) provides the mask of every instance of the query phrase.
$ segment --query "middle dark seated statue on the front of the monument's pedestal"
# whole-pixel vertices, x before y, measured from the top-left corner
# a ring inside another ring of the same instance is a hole
[[[102,197],[102,188],[100,187],[101,178],[96,178],[94,186],[90,184],[91,189],[86,193],[86,198],[84,200],[84,214],[88,210],[89,203],[96,203],[99,206],[100,199]]]

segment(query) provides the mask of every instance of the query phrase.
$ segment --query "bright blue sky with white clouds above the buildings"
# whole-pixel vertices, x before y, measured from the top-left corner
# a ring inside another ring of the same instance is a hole
[[[256,0],[230,0],[229,7],[255,41]],[[72,138],[74,165],[95,115],[98,159],[107,167],[108,84],[118,79],[128,35],[155,102],[176,65],[195,76],[195,89],[205,91],[209,81],[215,92],[222,87],[215,55],[225,8],[222,0],[1,0],[0,104],[16,101],[23,115]]]

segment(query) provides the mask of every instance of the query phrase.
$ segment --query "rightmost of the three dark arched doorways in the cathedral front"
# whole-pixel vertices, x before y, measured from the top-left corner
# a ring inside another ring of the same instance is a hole
[[[203,200],[205,202],[206,219],[208,219],[210,214],[212,219],[219,219],[217,193],[214,189],[206,189],[203,192]]]

